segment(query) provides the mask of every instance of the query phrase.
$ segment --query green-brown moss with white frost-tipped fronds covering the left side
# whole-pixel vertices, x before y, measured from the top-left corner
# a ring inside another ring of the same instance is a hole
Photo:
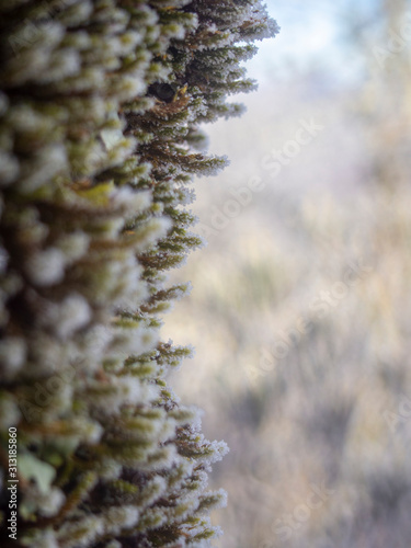
[[[0,0],[0,426],[19,433],[31,547],[203,546],[227,452],[167,375],[187,286],[202,122],[240,112],[239,61],[274,35],[259,1]],[[7,492],[1,520],[8,518]],[[13,543],[2,527],[1,546]]]

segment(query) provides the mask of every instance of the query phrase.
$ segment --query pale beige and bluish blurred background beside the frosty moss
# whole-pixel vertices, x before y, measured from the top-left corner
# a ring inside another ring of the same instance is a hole
[[[172,385],[230,447],[216,546],[409,548],[411,2],[267,7],[259,91],[206,128]]]

